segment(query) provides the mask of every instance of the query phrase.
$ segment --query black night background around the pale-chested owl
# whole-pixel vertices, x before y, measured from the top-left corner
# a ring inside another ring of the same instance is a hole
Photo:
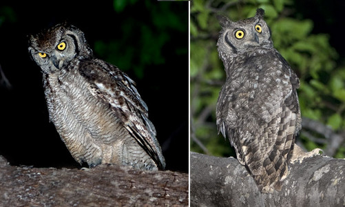
[[[136,81],[167,170],[187,172],[188,3],[37,2],[0,3],[0,65],[11,84],[0,84],[0,155],[12,165],[79,167],[49,122],[41,71],[28,54],[28,35],[67,21],[85,33],[96,57]]]

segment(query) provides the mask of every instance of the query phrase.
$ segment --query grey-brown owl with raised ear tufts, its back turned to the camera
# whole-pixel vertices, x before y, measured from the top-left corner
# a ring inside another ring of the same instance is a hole
[[[295,137],[301,129],[297,75],[273,48],[271,31],[255,17],[218,17],[218,52],[227,79],[216,107],[218,133],[229,137],[238,161],[262,193],[281,190]]]

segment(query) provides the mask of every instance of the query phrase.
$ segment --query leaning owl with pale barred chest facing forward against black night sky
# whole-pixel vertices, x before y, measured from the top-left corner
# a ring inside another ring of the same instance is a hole
[[[83,32],[56,25],[30,37],[41,67],[50,120],[79,164],[165,168],[165,159],[135,83],[92,55]]]

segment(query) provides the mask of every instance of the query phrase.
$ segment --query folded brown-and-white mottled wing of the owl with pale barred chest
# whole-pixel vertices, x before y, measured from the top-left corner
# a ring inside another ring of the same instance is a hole
[[[97,60],[83,62],[79,72],[87,79],[95,97],[109,103],[123,126],[154,159],[158,168],[165,168],[165,159],[156,139],[156,129],[148,119],[147,106],[135,88],[135,83],[115,66]]]

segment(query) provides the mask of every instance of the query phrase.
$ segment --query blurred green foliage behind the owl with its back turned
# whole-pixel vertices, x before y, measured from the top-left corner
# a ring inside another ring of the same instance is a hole
[[[298,95],[302,116],[320,121],[333,130],[344,130],[345,67],[337,66],[338,55],[329,44],[328,34],[313,34],[313,21],[291,14],[293,4],[292,0],[216,0],[212,3],[194,0],[191,3],[191,123],[194,134],[212,155],[229,155],[215,124],[216,102],[225,78],[216,49],[220,31],[216,14],[237,21],[253,17],[257,8],[263,8],[275,48],[300,77]],[[301,139],[308,149],[326,147],[307,137]],[[201,151],[194,141],[191,141],[191,150]],[[344,157],[344,152],[344,148],[339,148],[336,156]]]

